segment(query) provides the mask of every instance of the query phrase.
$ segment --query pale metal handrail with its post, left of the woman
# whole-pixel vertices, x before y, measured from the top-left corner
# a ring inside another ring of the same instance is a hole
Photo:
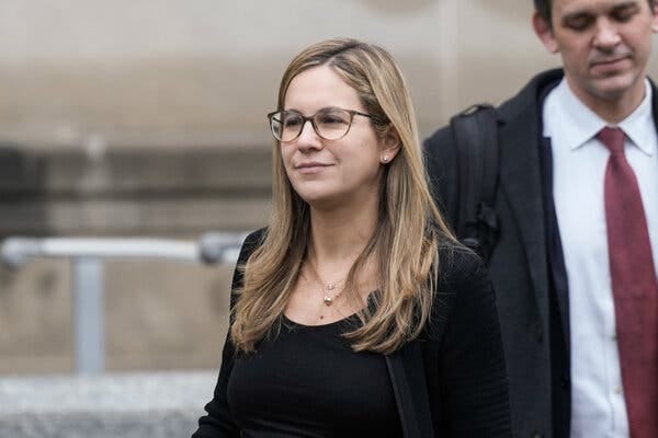
[[[105,368],[104,261],[157,258],[186,263],[231,264],[247,233],[211,232],[198,241],[145,238],[10,237],[0,245],[2,261],[20,268],[34,258],[69,258],[73,275],[76,369],[99,373]]]

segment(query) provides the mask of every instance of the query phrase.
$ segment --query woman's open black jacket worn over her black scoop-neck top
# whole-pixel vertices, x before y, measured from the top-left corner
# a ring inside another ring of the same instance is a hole
[[[250,234],[238,263],[260,244]],[[421,338],[386,356],[405,438],[511,437],[508,381],[490,281],[468,250],[441,250],[441,275],[431,323]],[[232,290],[242,281],[236,269]],[[231,293],[231,308],[236,295]],[[236,353],[227,337],[207,415],[193,438],[238,437],[226,389]]]

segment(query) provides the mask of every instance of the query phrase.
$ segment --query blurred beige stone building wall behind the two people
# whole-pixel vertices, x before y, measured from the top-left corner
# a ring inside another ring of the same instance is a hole
[[[265,113],[303,47],[389,49],[422,136],[558,65],[519,0],[0,0],[0,238],[262,226]],[[656,68],[656,58],[653,69]],[[231,266],[106,266],[107,367],[215,368]],[[72,368],[66,261],[0,272],[0,373]]]

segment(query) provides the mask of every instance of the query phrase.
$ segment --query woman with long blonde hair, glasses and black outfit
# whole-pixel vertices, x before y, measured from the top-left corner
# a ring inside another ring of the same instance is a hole
[[[269,119],[270,226],[242,246],[193,437],[510,436],[494,293],[432,204],[390,55],[308,47]]]

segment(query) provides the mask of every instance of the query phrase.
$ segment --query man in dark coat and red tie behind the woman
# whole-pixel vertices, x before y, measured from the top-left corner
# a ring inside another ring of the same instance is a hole
[[[489,258],[517,437],[658,437],[658,91],[655,0],[534,0],[563,69],[496,110]],[[458,220],[450,128],[426,141]]]

